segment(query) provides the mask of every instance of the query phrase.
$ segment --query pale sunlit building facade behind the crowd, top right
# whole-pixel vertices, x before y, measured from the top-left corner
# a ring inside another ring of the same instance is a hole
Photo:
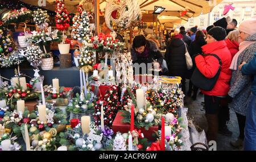
[[[256,15],[256,0],[224,0],[216,7],[214,7],[212,12],[210,12],[209,14],[202,14],[200,16],[197,16],[196,18],[189,18],[188,22],[185,24],[181,24],[181,26],[184,26],[186,29],[194,26],[197,26],[201,30],[205,29],[208,26],[212,25],[214,22],[216,22],[216,20],[224,17],[224,6],[229,5],[230,2],[233,3],[232,6],[235,7],[235,9],[234,11],[230,10],[229,13],[225,15],[225,17],[230,16],[230,18],[236,19],[238,22],[238,26],[239,23],[242,22],[242,20]]]

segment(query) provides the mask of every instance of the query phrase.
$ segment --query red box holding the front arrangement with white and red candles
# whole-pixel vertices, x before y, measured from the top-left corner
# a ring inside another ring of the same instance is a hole
[[[130,131],[130,123],[123,123],[121,116],[121,112],[119,111],[117,113],[117,116],[114,119],[112,129],[115,133],[121,132],[121,133],[127,133]],[[134,127],[134,129],[139,130],[138,128]],[[156,136],[153,136],[152,134],[155,134],[155,131],[158,131],[158,126],[150,127],[148,130],[145,130],[144,128],[140,128],[140,130],[143,132],[143,135],[145,138],[151,141],[156,140]]]

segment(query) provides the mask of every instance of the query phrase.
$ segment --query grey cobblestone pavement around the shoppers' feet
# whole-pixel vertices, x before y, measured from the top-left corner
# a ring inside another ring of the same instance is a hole
[[[199,126],[205,132],[207,132],[207,119],[205,118],[205,111],[201,102],[204,101],[204,95],[198,94],[196,101],[193,101],[191,97],[185,97],[185,107],[188,107],[188,117],[192,117],[196,126]],[[228,128],[233,132],[232,136],[224,136],[218,134],[217,138],[217,150],[218,151],[232,151],[239,150],[230,145],[231,140],[235,140],[239,135],[238,122],[236,113],[230,110],[230,122]]]

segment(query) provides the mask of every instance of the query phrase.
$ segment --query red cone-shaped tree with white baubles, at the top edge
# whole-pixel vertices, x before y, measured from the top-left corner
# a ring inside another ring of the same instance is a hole
[[[68,30],[69,27],[69,13],[65,7],[64,0],[57,0],[55,5],[55,22],[56,27],[60,31]]]

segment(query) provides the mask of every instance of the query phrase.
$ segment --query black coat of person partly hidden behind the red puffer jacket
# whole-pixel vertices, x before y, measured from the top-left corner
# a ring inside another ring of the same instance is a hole
[[[199,38],[194,41],[189,45],[189,55],[191,56],[192,60],[194,59],[195,55],[201,54],[202,53],[202,46],[207,44],[204,38]],[[195,70],[195,60],[193,60],[193,68],[188,70],[187,73],[187,78],[190,79],[193,73],[193,70]]]

